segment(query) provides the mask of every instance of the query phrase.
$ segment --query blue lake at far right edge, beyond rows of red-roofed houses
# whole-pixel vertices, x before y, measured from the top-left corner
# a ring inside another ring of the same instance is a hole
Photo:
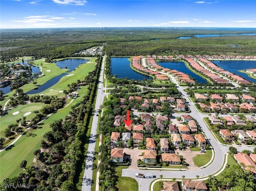
[[[256,61],[253,60],[214,60],[214,64],[222,69],[232,72],[238,76],[243,77],[248,81],[256,83],[256,79],[250,78],[247,74],[239,72],[238,70],[250,69],[256,67]]]

